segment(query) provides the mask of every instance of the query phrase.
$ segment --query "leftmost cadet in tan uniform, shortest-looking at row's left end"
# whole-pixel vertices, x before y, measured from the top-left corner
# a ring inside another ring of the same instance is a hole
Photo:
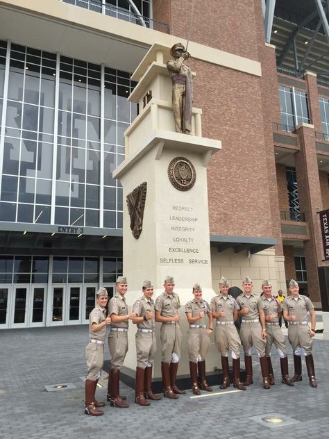
[[[85,413],[92,416],[103,415],[103,412],[98,407],[105,406],[104,402],[96,401],[95,391],[104,362],[106,326],[111,323],[111,318],[106,317],[107,304],[108,292],[106,288],[99,288],[96,293],[96,307],[89,315],[90,343],[85,348],[85,358],[88,367],[85,380]]]

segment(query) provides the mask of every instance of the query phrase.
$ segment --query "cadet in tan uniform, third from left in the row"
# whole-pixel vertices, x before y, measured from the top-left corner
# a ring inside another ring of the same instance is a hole
[[[136,332],[136,384],[135,401],[140,406],[149,406],[147,399],[161,399],[152,392],[152,367],[156,352],[155,337],[155,304],[152,299],[153,285],[151,281],[143,283],[144,295],[133,305],[133,323],[137,324]]]

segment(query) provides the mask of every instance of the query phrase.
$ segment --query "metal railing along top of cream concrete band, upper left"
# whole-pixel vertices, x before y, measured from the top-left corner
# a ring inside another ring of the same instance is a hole
[[[138,24],[139,26],[144,26],[147,28],[154,29],[155,31],[160,31],[163,33],[170,33],[169,24],[158,22],[149,17],[142,17],[142,15],[137,15],[136,13],[130,12],[128,9],[117,8],[104,0],[59,0],[63,3],[69,3],[74,6],[80,6],[88,10],[93,10],[94,12],[101,13],[103,15],[109,15],[110,17],[115,17],[125,22]]]

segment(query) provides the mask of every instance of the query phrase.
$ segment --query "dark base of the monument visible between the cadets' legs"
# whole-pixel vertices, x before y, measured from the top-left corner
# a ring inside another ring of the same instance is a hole
[[[104,361],[103,370],[108,373],[111,367],[111,361]],[[179,369],[178,369],[179,372]],[[230,367],[230,388],[233,388],[233,370]],[[222,370],[217,370],[216,372],[207,372],[207,382],[210,387],[213,388],[213,390],[218,390],[219,386],[221,385],[221,381],[223,380],[223,373]],[[242,369],[240,371],[240,380],[244,381],[246,376],[246,372]],[[135,370],[128,369],[128,367],[122,367],[120,372],[120,381],[126,386],[130,388],[135,388]],[[191,388],[191,378],[189,375],[178,375],[176,379],[176,384],[178,388],[188,390]],[[159,376],[158,378],[152,379],[152,389],[154,393],[162,393],[162,378]],[[203,390],[201,390],[203,392]],[[205,392],[208,393],[208,392]]]

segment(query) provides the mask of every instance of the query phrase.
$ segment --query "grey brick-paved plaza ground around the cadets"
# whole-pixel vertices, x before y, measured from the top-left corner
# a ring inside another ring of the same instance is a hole
[[[130,408],[107,405],[102,417],[83,411],[86,343],[87,326],[0,331],[1,439],[328,438],[329,342],[320,335],[313,350],[317,389],[308,385],[305,363],[302,382],[294,388],[281,384],[276,355],[272,358],[277,383],[271,390],[262,389],[258,358],[253,356],[254,384],[246,392],[216,387],[217,395],[191,398],[188,391],[177,401],[164,398],[144,408],[133,403],[133,390],[122,385]],[[291,349],[289,367],[292,372]],[[64,382],[75,387],[44,390]],[[97,390],[99,400],[105,401],[105,395],[105,387]],[[281,415],[285,423],[260,420],[271,413]]]

